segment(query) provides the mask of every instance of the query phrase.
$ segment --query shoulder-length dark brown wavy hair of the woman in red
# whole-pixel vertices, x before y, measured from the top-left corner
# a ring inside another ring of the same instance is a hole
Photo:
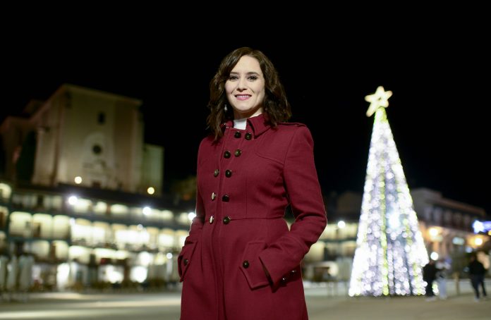
[[[215,140],[223,135],[221,124],[234,118],[234,111],[231,106],[229,106],[228,111],[224,110],[227,102],[225,82],[229,79],[231,70],[242,56],[251,56],[259,61],[265,78],[266,94],[262,107],[267,121],[272,127],[276,127],[279,122],[286,122],[291,117],[291,106],[286,99],[286,92],[273,63],[261,51],[250,47],[241,47],[225,56],[217,73],[210,81],[210,101],[208,101],[210,114],[207,116],[206,122],[208,128],[212,130]]]

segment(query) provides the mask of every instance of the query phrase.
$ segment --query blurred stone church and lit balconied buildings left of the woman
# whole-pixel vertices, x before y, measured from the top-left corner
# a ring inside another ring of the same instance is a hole
[[[0,269],[11,278],[13,257],[29,255],[40,290],[178,280],[194,205],[163,194],[164,151],[143,141],[141,104],[62,85],[0,125]],[[0,292],[18,288],[0,279]]]

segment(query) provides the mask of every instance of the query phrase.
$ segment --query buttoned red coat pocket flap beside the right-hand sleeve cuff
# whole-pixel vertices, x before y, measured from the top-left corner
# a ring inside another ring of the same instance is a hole
[[[266,242],[262,241],[251,241],[245,245],[241,266],[239,266],[239,268],[251,289],[260,288],[269,284],[262,262],[259,259],[259,254],[262,250],[265,250],[266,247]]]

